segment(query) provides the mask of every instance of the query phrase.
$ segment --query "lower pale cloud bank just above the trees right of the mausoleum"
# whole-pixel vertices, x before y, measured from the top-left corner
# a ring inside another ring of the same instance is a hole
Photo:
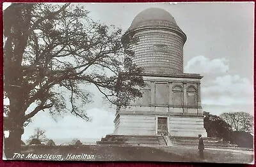
[[[237,110],[251,108],[244,112],[253,112],[253,84],[239,75],[218,76],[202,86],[202,106],[204,105],[223,106],[223,110],[234,110],[234,106]]]

